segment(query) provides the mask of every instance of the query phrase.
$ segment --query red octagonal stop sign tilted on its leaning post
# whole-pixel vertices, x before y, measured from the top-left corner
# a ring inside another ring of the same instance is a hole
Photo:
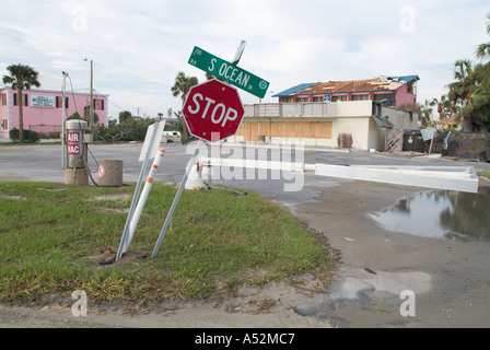
[[[190,133],[210,142],[234,136],[244,113],[236,89],[215,79],[192,86],[183,110]]]

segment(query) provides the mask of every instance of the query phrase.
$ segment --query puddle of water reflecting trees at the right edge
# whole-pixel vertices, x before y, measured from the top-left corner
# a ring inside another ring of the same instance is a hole
[[[423,237],[490,242],[490,188],[438,190],[400,200],[370,217],[383,229]]]

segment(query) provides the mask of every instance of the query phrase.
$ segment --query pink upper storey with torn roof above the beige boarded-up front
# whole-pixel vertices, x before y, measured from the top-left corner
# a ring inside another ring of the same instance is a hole
[[[418,75],[380,77],[368,80],[330,81],[293,86],[273,97],[280,103],[374,101],[386,107],[417,102]]]

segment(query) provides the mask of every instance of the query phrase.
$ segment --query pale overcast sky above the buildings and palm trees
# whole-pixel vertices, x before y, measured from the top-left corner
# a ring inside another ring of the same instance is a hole
[[[490,42],[488,0],[1,0],[0,9],[1,77],[23,63],[42,89],[60,91],[66,71],[74,91],[89,92],[88,58],[114,117],[180,109],[171,92],[178,71],[206,81],[187,63],[195,46],[232,60],[246,40],[238,66],[270,82],[262,102],[300,83],[417,74],[423,103],[446,93],[457,59]]]

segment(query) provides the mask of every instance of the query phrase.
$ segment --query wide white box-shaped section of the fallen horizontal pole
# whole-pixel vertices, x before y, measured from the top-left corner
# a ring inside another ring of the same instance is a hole
[[[435,189],[478,191],[474,167],[316,164],[315,175]]]

